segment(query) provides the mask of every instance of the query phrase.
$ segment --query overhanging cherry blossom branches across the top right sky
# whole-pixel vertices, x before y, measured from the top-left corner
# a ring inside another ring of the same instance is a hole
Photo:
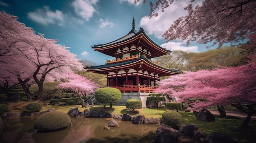
[[[137,0],[140,1],[140,0]],[[145,0],[144,0],[145,1]],[[178,18],[163,34],[167,41],[182,39],[187,45],[191,41],[235,43],[246,39],[246,35],[256,31],[256,0],[204,0],[201,6],[193,7],[193,1],[184,9],[188,15]],[[174,0],[150,2],[150,17],[158,16]]]

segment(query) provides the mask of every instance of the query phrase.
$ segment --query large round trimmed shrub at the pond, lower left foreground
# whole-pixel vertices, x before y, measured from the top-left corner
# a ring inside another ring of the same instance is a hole
[[[39,129],[40,131],[57,131],[64,129],[71,124],[70,116],[64,112],[46,112],[41,114],[34,124],[35,129]]]

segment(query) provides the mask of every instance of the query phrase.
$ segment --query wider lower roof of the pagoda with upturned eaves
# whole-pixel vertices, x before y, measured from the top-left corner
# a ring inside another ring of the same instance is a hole
[[[153,64],[152,62],[148,61],[148,59],[145,58],[144,56],[140,56],[139,58],[133,59],[130,61],[116,62],[113,64],[104,64],[99,66],[89,66],[89,67],[86,67],[85,69],[89,72],[104,73],[106,71],[113,71],[113,70],[120,70],[120,69],[123,70],[124,68],[132,68],[139,65],[142,65],[141,68],[144,68],[149,71],[154,71],[156,73],[159,73],[162,76],[178,75],[182,73],[182,71],[174,68],[163,68],[161,66]]]

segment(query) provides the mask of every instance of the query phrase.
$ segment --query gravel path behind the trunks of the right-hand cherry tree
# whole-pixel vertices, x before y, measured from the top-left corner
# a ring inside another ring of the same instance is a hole
[[[220,115],[220,113],[218,112],[218,110],[209,110],[211,112],[211,114],[215,114],[215,115]],[[230,111],[227,110],[226,111],[226,115],[227,116],[235,116],[241,119],[245,119],[247,117],[247,114],[242,112],[242,111]],[[252,115],[251,120],[256,120],[256,114]]]

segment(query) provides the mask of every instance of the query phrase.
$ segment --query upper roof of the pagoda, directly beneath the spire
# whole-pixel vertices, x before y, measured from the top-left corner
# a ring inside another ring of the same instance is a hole
[[[171,53],[170,50],[162,48],[161,46],[150,40],[143,28],[140,28],[138,32],[134,28],[132,28],[132,30],[123,37],[106,44],[94,45],[92,46],[92,48],[94,48],[94,51],[99,51],[106,55],[115,57],[115,51],[118,48],[123,48],[131,45],[139,45],[143,48],[150,50],[152,58]]]

